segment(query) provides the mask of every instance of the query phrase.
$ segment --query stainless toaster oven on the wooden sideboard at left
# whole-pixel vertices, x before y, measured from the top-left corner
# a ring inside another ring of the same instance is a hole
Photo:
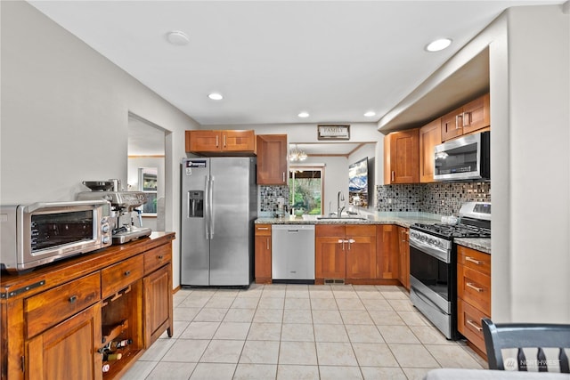
[[[106,200],[0,206],[0,267],[28,271],[112,244]]]

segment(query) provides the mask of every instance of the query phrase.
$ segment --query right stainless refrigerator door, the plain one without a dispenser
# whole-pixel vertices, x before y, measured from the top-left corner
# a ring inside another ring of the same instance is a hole
[[[212,158],[211,162],[210,285],[248,286],[249,205],[255,170],[251,170],[251,158]]]

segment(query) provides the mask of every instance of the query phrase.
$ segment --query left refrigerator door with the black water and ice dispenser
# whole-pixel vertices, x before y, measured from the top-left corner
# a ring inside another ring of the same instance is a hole
[[[209,158],[184,159],[182,163],[181,285],[209,285],[209,166]]]

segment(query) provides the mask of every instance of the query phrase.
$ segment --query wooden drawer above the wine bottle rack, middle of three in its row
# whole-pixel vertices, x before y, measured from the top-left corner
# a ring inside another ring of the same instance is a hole
[[[137,279],[141,279],[143,268],[142,255],[138,255],[102,270],[102,297],[113,295]]]

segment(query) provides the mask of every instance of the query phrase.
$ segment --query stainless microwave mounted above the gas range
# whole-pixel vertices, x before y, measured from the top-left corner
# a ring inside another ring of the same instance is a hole
[[[490,132],[468,134],[445,141],[434,150],[434,180],[490,180],[490,154]]]

